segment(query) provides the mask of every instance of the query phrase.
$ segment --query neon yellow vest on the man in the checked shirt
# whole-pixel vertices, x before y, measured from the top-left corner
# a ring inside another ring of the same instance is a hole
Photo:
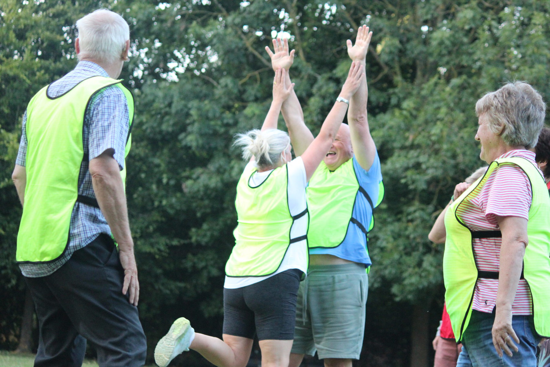
[[[27,106],[27,154],[23,215],[17,235],[18,262],[57,260],[69,244],[69,224],[77,201],[99,207],[95,198],[78,194],[83,146],[84,114],[92,97],[117,85],[128,101],[129,129],[125,156],[131,145],[134,99],[121,80],[92,76],[59,97],[48,97],[49,86]],[[125,166],[125,165],[124,165]],[[126,169],[120,172],[123,182]]]

